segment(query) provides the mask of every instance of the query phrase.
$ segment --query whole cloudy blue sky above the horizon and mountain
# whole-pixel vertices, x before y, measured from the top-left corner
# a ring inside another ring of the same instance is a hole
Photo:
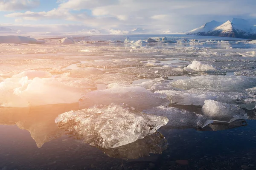
[[[0,0],[0,27],[19,34],[175,33],[211,20],[256,19],[255,9],[256,0]]]

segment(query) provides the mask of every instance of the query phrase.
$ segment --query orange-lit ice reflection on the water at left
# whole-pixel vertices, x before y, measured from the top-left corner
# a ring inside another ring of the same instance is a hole
[[[63,135],[54,119],[61,113],[78,110],[78,103],[44,105],[29,108],[0,108],[0,125],[17,125],[29,131],[40,148],[44,143]]]

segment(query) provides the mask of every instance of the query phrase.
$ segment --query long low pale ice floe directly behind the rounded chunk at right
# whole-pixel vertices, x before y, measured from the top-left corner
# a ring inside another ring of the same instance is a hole
[[[247,92],[221,92],[206,89],[190,89],[188,91],[155,91],[166,94],[175,105],[204,105],[204,101],[211,99],[228,104],[236,104],[242,108],[253,109],[256,104],[256,95]]]

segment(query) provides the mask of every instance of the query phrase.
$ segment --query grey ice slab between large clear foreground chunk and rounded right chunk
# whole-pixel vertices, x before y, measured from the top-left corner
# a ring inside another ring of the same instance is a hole
[[[144,110],[143,112],[157,116],[166,116],[169,119],[166,125],[172,127],[204,127],[213,122],[211,119],[208,119],[207,116],[165,106],[158,106]]]

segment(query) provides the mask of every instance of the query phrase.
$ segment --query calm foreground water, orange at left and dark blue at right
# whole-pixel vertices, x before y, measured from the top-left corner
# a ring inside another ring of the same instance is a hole
[[[200,111],[200,107],[181,108]],[[0,108],[0,170],[256,169],[254,120],[204,129],[162,127],[145,139],[104,150],[58,129],[55,117],[77,109],[77,103]],[[254,117],[251,111],[250,119]]]

